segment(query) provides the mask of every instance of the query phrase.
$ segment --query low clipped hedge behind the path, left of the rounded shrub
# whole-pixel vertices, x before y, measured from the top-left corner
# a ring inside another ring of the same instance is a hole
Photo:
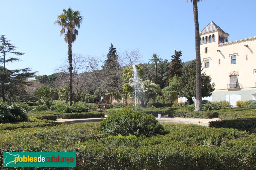
[[[93,118],[93,117],[104,117],[104,113],[100,112],[89,112],[89,113],[63,113],[58,116],[62,119],[76,119],[76,118]]]

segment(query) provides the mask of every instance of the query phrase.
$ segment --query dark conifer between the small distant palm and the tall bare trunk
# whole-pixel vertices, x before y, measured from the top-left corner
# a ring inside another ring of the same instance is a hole
[[[171,60],[171,66],[168,67],[170,72],[170,78],[173,78],[175,75],[180,77],[182,74],[181,68],[182,68],[182,59],[180,57],[182,56],[181,50],[180,51],[174,51],[174,55],[172,55]]]

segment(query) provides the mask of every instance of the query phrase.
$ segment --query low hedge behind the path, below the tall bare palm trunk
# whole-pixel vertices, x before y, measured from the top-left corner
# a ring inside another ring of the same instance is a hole
[[[186,111],[184,109],[173,110],[172,112],[168,113],[168,117],[186,117],[186,118],[217,118],[219,113],[215,110],[213,111]]]

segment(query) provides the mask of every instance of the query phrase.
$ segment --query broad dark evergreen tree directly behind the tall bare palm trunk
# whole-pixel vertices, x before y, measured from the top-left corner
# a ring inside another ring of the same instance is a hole
[[[209,97],[212,95],[212,92],[215,89],[215,84],[211,84],[211,80],[211,77],[207,76],[205,72],[201,73],[202,97]],[[186,97],[189,104],[192,104],[192,98],[196,96],[196,60],[193,60],[184,67],[179,84],[181,96]]]

